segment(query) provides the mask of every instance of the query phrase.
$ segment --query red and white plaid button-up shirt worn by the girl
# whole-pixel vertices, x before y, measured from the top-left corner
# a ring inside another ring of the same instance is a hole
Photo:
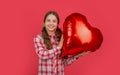
[[[41,35],[34,37],[36,54],[39,57],[38,75],[64,75],[64,66],[72,64],[77,58],[59,58],[61,50],[57,47],[55,35],[50,36],[53,49],[47,50]]]

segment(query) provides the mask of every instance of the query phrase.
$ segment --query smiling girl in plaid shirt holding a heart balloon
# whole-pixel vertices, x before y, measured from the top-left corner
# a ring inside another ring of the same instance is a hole
[[[72,64],[81,55],[59,58],[63,45],[63,36],[58,28],[59,16],[49,11],[44,17],[42,34],[34,38],[36,54],[39,57],[38,75],[64,75],[64,66]]]

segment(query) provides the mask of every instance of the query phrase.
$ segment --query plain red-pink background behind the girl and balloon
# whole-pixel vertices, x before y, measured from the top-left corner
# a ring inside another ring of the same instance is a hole
[[[47,11],[59,13],[60,25],[73,12],[85,15],[104,36],[100,49],[65,68],[65,75],[120,75],[119,0],[0,1],[0,75],[37,75],[33,37],[41,33]]]

